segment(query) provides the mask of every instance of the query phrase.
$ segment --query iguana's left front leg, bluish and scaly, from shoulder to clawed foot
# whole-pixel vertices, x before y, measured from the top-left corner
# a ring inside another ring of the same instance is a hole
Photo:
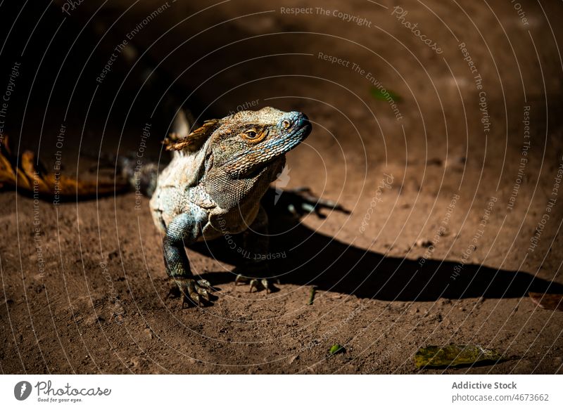
[[[201,300],[210,301],[211,285],[207,280],[197,280],[191,273],[186,246],[194,244],[201,235],[203,215],[183,213],[176,216],[166,227],[163,239],[166,273],[172,282],[170,293],[182,298],[182,308],[187,301],[201,306]]]

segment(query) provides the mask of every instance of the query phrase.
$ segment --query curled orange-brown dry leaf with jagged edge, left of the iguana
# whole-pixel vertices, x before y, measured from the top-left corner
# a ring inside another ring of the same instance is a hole
[[[110,195],[128,188],[122,181],[83,181],[59,171],[47,172],[30,150],[18,160],[10,149],[8,136],[4,136],[0,145],[0,188],[6,187],[57,201]]]

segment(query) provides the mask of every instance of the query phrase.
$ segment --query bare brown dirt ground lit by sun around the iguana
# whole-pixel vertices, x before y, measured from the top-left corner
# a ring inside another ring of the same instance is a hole
[[[139,152],[151,119],[125,108],[156,100],[137,100],[142,85],[124,79],[124,58],[107,80],[96,76],[111,45],[165,2],[120,17],[123,3],[96,14],[116,24],[99,46],[84,40],[84,59],[65,55],[95,25],[80,24],[96,13],[89,2],[68,16],[51,8],[36,32],[18,22],[11,33],[22,38],[16,50],[28,38],[35,51],[46,49],[37,37],[56,39],[45,60],[24,55],[6,124],[47,169],[61,151],[65,172],[92,177],[96,161],[84,152]],[[218,299],[182,309],[166,299],[146,197],[53,205],[6,190],[2,373],[563,373],[563,313],[528,297],[563,293],[563,6],[404,1],[401,14],[386,0],[312,1],[310,13],[286,11],[302,4],[170,2],[134,41],[202,119],[238,105],[305,112],[313,131],[288,155],[286,188],[309,186],[350,214],[272,216],[272,294],[235,286],[231,264],[189,250]],[[374,98],[378,84],[392,100]],[[146,141],[163,162],[165,131],[154,125]],[[336,343],[346,353],[330,356]],[[415,368],[417,349],[450,343],[512,359]]]

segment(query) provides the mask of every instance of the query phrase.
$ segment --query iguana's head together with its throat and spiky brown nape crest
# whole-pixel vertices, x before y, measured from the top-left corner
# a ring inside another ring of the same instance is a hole
[[[219,207],[232,209],[251,191],[263,195],[281,171],[285,154],[307,138],[311,128],[301,112],[262,108],[207,121],[165,144],[167,150],[203,154],[198,175],[205,178],[205,190]]]

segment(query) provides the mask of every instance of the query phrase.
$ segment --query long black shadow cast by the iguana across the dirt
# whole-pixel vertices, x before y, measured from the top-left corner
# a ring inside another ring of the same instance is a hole
[[[384,301],[503,299],[525,297],[528,292],[563,294],[563,285],[524,271],[436,259],[421,263],[348,245],[313,231],[286,211],[288,205],[302,200],[298,194],[286,192],[272,206],[274,194],[270,189],[262,204],[270,219],[270,269],[282,284],[315,285],[318,290]],[[191,248],[236,264],[240,255],[228,247],[224,240],[217,239]],[[232,282],[234,273],[213,272],[202,277],[221,284]]]

